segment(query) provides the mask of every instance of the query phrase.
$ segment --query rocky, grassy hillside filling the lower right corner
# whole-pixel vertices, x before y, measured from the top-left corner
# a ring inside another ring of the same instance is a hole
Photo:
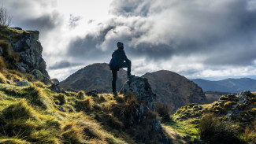
[[[185,105],[166,122],[192,137],[200,136],[203,142],[256,143],[256,93],[243,91],[241,94],[221,96],[217,102]]]

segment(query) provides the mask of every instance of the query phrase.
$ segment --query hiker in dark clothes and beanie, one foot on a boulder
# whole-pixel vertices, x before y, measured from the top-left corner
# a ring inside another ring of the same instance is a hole
[[[125,62],[124,62],[125,61]],[[132,62],[126,57],[124,53],[124,43],[117,42],[117,50],[112,54],[112,59],[109,62],[109,67],[112,70],[112,90],[114,97],[117,96],[116,82],[117,82],[117,71],[119,68],[127,68],[127,77],[132,78],[134,75],[131,75],[131,66]]]

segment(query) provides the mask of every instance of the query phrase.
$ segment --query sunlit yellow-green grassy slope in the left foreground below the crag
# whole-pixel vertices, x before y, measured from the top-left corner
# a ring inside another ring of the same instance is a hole
[[[1,75],[2,79],[7,77]],[[14,83],[12,79],[5,80]],[[105,99],[102,104],[113,103],[112,95],[102,94],[99,98]],[[126,143],[122,134],[114,136],[114,132],[106,131],[91,115],[76,112],[77,103],[91,102],[83,105],[87,108],[80,108],[90,111],[92,103],[97,101],[83,92],[81,98],[81,94],[79,97],[72,92],[56,94],[39,82],[28,87],[1,83],[0,99],[0,143]],[[55,104],[58,102],[62,102],[65,112],[59,110]],[[132,142],[128,136],[126,139]]]

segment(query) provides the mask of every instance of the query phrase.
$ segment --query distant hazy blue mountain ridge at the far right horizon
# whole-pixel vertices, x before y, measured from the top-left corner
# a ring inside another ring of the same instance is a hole
[[[206,79],[191,79],[202,87],[204,91],[221,91],[228,93],[240,93],[243,90],[256,91],[256,80],[250,78],[223,79],[210,81]]]

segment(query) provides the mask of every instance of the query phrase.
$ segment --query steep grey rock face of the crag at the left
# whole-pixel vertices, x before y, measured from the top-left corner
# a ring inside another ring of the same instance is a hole
[[[31,73],[35,79],[50,84],[46,62],[42,57],[43,47],[39,42],[39,31],[23,31],[18,38],[9,35],[9,42],[13,51],[19,54],[17,70]]]

